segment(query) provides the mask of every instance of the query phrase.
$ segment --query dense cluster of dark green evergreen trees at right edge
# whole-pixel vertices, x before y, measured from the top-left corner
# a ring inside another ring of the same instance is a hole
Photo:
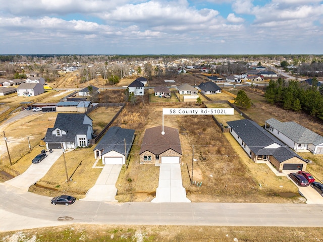
[[[313,117],[323,119],[323,96],[316,78],[312,85],[279,78],[270,80],[265,89],[265,99],[272,104],[278,104],[286,110],[301,112],[304,110]]]

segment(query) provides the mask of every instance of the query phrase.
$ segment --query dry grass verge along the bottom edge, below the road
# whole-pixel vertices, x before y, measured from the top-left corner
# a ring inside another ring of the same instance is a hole
[[[323,241],[321,227],[242,227],[74,224],[19,231],[20,241],[177,241],[177,242],[269,242]],[[17,241],[17,231],[1,232],[2,241]]]

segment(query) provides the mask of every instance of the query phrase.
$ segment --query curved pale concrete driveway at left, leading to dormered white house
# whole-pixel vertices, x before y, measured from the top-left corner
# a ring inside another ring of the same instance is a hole
[[[62,155],[62,150],[53,150],[52,153],[47,152],[46,154],[47,157],[40,163],[32,164],[30,161],[30,166],[24,173],[7,180],[5,183],[28,192],[29,187],[41,179],[53,163],[58,160]]]

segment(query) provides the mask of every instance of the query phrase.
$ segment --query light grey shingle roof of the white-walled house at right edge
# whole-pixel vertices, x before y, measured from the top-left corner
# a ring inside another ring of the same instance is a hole
[[[323,143],[323,137],[306,129],[295,122],[280,122],[276,118],[266,120],[266,123],[287,136],[298,144],[319,145]]]

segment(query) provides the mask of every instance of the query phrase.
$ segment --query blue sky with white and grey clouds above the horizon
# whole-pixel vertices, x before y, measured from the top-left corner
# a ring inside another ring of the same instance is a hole
[[[320,0],[0,0],[0,54],[323,54]]]

